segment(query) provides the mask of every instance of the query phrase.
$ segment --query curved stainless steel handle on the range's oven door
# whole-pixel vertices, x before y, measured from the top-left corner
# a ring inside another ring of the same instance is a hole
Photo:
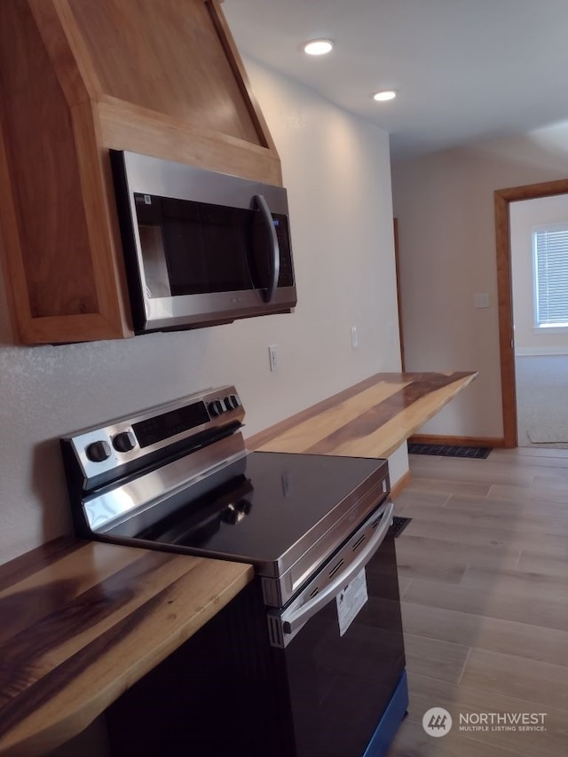
[[[367,542],[367,546],[359,552],[357,560],[354,563],[349,564],[345,571],[339,573],[335,577],[335,580],[328,584],[327,587],[319,592],[319,594],[315,595],[313,599],[300,605],[296,611],[293,611],[290,614],[289,618],[286,620],[283,619],[282,630],[285,634],[296,634],[309,619],[334,598],[340,589],[355,578],[365,564],[367,564],[369,559],[375,554],[376,550],[383,543],[390,528],[390,524],[392,523],[394,504],[391,501],[388,501],[385,502],[383,507],[381,525],[377,528],[373,537]]]

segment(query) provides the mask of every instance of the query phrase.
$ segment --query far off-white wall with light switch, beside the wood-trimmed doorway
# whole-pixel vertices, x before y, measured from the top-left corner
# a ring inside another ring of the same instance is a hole
[[[393,164],[406,369],[479,371],[422,433],[502,437],[493,192],[565,177],[566,123]]]

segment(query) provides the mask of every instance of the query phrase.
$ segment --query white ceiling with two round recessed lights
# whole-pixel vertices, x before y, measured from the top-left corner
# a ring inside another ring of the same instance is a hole
[[[568,119],[568,0],[225,0],[242,53],[390,133],[393,159]],[[326,37],[322,58],[300,51]],[[374,91],[398,98],[375,103]]]

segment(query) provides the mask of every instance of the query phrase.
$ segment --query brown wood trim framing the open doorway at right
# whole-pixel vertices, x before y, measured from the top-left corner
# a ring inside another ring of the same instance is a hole
[[[501,354],[501,399],[505,447],[517,446],[517,382],[513,335],[513,296],[511,275],[509,204],[568,193],[568,179],[498,189],[493,193],[495,207],[495,247],[497,255],[497,302]]]

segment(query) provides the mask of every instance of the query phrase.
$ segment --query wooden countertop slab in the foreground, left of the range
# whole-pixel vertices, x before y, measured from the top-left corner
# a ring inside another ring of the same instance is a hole
[[[247,564],[72,539],[0,567],[0,754],[76,736],[252,577]]]

